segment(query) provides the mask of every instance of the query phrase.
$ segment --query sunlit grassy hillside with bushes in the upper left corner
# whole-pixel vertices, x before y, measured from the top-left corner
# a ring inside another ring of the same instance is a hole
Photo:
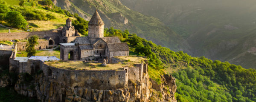
[[[51,4],[50,8],[47,8],[46,5],[44,5],[44,1],[46,0],[11,1],[12,2],[10,2],[10,0],[5,0],[3,2],[0,0],[0,23],[5,26],[23,29],[24,31],[26,29],[29,29],[29,31],[46,31],[56,29],[63,26],[67,16],[73,17],[73,15],[67,10],[62,10],[60,7],[54,6],[53,4]],[[18,3],[20,2],[23,2],[24,6],[18,6]],[[12,12],[12,15],[10,15],[10,12]],[[16,17],[13,16],[14,14]],[[48,22],[48,20],[51,20],[51,22]],[[29,28],[27,28],[28,23]],[[0,32],[6,31],[2,31],[0,29]]]

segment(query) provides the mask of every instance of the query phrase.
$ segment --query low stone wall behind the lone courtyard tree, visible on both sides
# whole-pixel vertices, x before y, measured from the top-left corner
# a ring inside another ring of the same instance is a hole
[[[25,51],[26,50],[26,43],[27,42],[17,42],[17,51]],[[38,45],[35,45],[35,49],[39,50],[47,49],[49,47],[49,41],[38,41]]]

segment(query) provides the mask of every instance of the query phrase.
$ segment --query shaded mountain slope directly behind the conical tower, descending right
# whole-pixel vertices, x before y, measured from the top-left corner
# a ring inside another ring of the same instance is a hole
[[[152,40],[175,51],[189,47],[180,35],[164,26],[160,20],[133,11],[122,5],[119,0],[53,0],[53,2],[71,12],[73,6],[76,6],[76,10],[73,12],[81,10],[90,15],[93,14],[97,6],[106,28],[113,26],[121,30],[128,29],[131,33],[136,33],[140,37]],[[87,19],[87,17],[84,18]]]

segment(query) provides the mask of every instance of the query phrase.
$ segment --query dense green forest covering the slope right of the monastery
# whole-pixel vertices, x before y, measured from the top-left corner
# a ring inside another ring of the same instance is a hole
[[[160,75],[169,72],[176,78],[178,102],[253,102],[256,101],[256,70],[244,69],[229,62],[191,57],[182,51],[156,45],[129,34],[127,30],[105,28],[106,36],[117,36],[127,42],[130,54],[147,56],[148,72],[160,83]]]

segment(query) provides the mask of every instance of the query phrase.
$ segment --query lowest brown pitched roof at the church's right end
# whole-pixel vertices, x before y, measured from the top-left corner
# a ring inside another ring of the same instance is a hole
[[[108,43],[109,51],[129,51],[127,43]]]

